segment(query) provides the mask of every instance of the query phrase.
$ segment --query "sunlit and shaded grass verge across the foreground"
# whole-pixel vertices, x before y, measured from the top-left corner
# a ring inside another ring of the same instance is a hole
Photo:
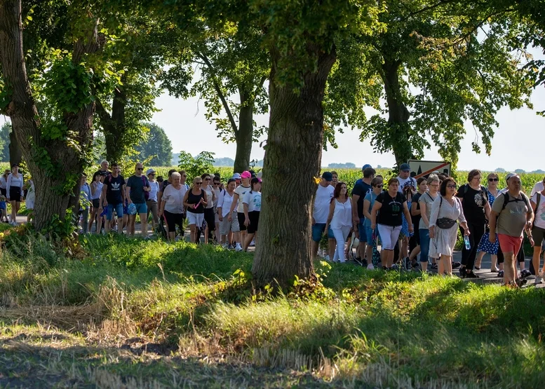
[[[189,243],[23,237],[1,252],[0,386],[537,388],[545,379],[545,289],[317,261],[323,287],[271,296],[251,288],[251,261]]]

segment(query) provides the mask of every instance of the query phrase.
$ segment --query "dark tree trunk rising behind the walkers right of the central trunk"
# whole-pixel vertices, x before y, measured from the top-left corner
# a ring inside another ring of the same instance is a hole
[[[410,145],[410,112],[403,102],[398,69],[400,62],[386,60],[382,65],[382,80],[388,103],[388,127],[391,132],[391,147],[397,165],[407,162],[412,157]]]

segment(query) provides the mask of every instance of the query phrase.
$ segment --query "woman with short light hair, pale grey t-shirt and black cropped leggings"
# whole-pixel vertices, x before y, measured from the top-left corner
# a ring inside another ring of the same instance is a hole
[[[165,216],[168,226],[168,239],[174,242],[176,238],[176,225],[180,228],[180,233],[184,236],[184,198],[187,188],[182,185],[181,175],[173,172],[170,175],[172,182],[163,191],[161,205],[159,206],[159,217]]]

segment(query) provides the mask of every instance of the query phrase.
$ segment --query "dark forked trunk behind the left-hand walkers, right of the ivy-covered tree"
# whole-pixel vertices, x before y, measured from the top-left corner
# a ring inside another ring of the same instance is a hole
[[[97,102],[97,114],[104,130],[106,143],[106,159],[110,162],[119,162],[125,151],[123,135],[125,135],[125,108],[127,96],[125,90],[118,86],[114,90],[112,102],[112,115],[110,115],[102,103]]]

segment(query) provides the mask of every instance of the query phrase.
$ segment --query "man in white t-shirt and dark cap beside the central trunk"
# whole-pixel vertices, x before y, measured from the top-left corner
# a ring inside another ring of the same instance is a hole
[[[314,207],[312,208],[312,258],[316,258],[320,240],[325,231],[325,224],[328,222],[329,205],[333,198],[335,188],[331,186],[333,175],[330,172],[323,172],[322,180],[316,189]],[[328,244],[335,246],[335,237],[331,230],[328,231]]]

